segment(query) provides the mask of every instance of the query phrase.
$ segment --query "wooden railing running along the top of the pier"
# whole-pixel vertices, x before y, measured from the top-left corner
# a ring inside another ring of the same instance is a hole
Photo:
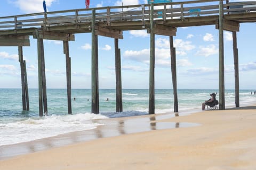
[[[226,1],[223,1],[226,2]],[[150,4],[129,6],[107,6],[76,10],[32,13],[0,17],[0,35],[4,30],[53,27],[55,25],[86,24],[91,22],[91,10],[96,10],[96,22],[111,25],[118,21],[141,21],[150,19]],[[256,11],[256,2],[236,2],[223,5],[224,14]],[[154,4],[154,18],[163,20],[180,19],[208,15],[219,15],[219,0],[173,2]]]

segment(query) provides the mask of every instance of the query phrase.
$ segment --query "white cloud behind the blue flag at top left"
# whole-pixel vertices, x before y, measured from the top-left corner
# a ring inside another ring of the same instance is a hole
[[[47,0],[46,7],[50,7],[52,3],[56,1],[57,0]],[[44,12],[42,0],[15,0],[12,3],[17,5],[20,8],[20,10],[25,13]]]

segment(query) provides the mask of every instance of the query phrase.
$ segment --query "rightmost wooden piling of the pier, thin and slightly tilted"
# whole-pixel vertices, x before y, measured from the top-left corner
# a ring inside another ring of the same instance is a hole
[[[233,53],[234,53],[234,69],[235,69],[235,104],[239,107],[239,66],[238,66],[238,49],[236,31],[233,31]]]

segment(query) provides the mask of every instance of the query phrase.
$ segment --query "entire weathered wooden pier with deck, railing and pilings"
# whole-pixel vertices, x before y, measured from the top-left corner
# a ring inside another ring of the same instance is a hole
[[[157,6],[157,7],[155,7]],[[219,108],[225,109],[223,30],[233,33],[235,68],[235,104],[239,107],[239,73],[236,32],[239,24],[256,22],[256,2],[202,0],[163,4],[107,6],[76,10],[33,13],[0,17],[0,46],[17,46],[21,68],[23,110],[29,110],[26,61],[22,47],[30,46],[29,36],[37,39],[38,47],[38,103],[39,115],[47,113],[47,92],[43,39],[63,41],[66,55],[67,103],[71,109],[71,58],[69,41],[78,33],[92,35],[92,113],[99,113],[98,36],[115,41],[116,64],[116,112],[122,112],[121,49],[118,39],[126,30],[147,29],[150,34],[149,114],[155,113],[155,35],[170,37],[171,71],[174,94],[174,112],[178,111],[177,73],[173,36],[178,27],[215,25],[219,29]]]

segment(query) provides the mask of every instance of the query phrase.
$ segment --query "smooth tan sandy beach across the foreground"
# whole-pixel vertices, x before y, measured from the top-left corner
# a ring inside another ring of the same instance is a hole
[[[175,127],[123,134],[118,130],[113,137],[0,160],[0,169],[256,169],[255,108],[141,116],[151,127]],[[191,125],[183,128],[183,123]],[[138,120],[136,127],[140,128]]]

